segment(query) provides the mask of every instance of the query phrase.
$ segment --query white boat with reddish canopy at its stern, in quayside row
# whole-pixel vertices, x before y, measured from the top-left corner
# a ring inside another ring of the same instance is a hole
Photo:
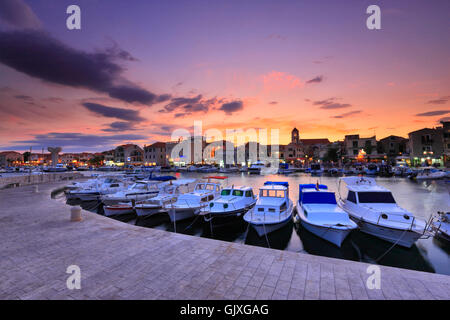
[[[211,180],[224,180],[227,177],[212,176],[203,179],[207,181],[197,183],[194,191],[181,194],[175,202],[164,205],[172,222],[194,217],[201,209],[208,207],[211,201],[220,197],[221,184]]]

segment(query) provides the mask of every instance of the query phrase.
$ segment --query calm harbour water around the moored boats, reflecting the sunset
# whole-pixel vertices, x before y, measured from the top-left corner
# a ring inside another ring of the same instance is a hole
[[[205,174],[199,173],[174,173],[173,175],[178,178],[205,176]],[[288,176],[260,176],[240,173],[231,174],[228,177],[228,185],[252,186],[255,192],[267,180],[288,181],[290,197],[294,203],[298,200],[298,185],[301,183],[316,183],[319,181],[326,184],[337,195],[339,194],[338,179],[334,177],[311,177],[303,173]],[[437,211],[450,211],[450,184],[448,182],[417,183],[404,178],[377,178],[377,183],[390,189],[398,204],[413,212],[417,217],[426,220]],[[99,207],[95,202],[83,203],[83,207],[94,212],[102,212],[101,206]],[[450,244],[434,238],[421,239],[410,249],[395,246],[383,256],[392,244],[359,231],[352,232],[344,241],[342,247],[338,248],[294,223],[269,234],[266,238],[264,236],[258,237],[252,228],[244,224],[232,228],[211,230],[210,226],[203,223],[201,218],[181,221],[176,226],[170,222],[167,214],[139,220],[123,217],[121,220],[143,227],[171,232],[176,227],[177,232],[194,236],[450,275]]]

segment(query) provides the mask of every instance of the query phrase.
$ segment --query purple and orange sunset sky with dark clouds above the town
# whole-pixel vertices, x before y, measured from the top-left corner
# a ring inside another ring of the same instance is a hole
[[[449,21],[448,0],[2,0],[0,150],[142,146],[199,120],[406,137],[450,119]]]

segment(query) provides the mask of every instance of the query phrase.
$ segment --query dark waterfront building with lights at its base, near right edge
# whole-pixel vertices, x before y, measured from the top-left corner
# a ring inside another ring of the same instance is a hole
[[[444,163],[444,129],[424,128],[408,133],[411,164],[413,166]]]

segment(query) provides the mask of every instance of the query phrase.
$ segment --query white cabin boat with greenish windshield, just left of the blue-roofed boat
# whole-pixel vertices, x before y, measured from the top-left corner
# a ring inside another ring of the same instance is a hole
[[[251,187],[232,186],[223,188],[220,198],[209,203],[204,213],[205,222],[213,227],[242,222],[243,215],[256,204],[256,197]]]

